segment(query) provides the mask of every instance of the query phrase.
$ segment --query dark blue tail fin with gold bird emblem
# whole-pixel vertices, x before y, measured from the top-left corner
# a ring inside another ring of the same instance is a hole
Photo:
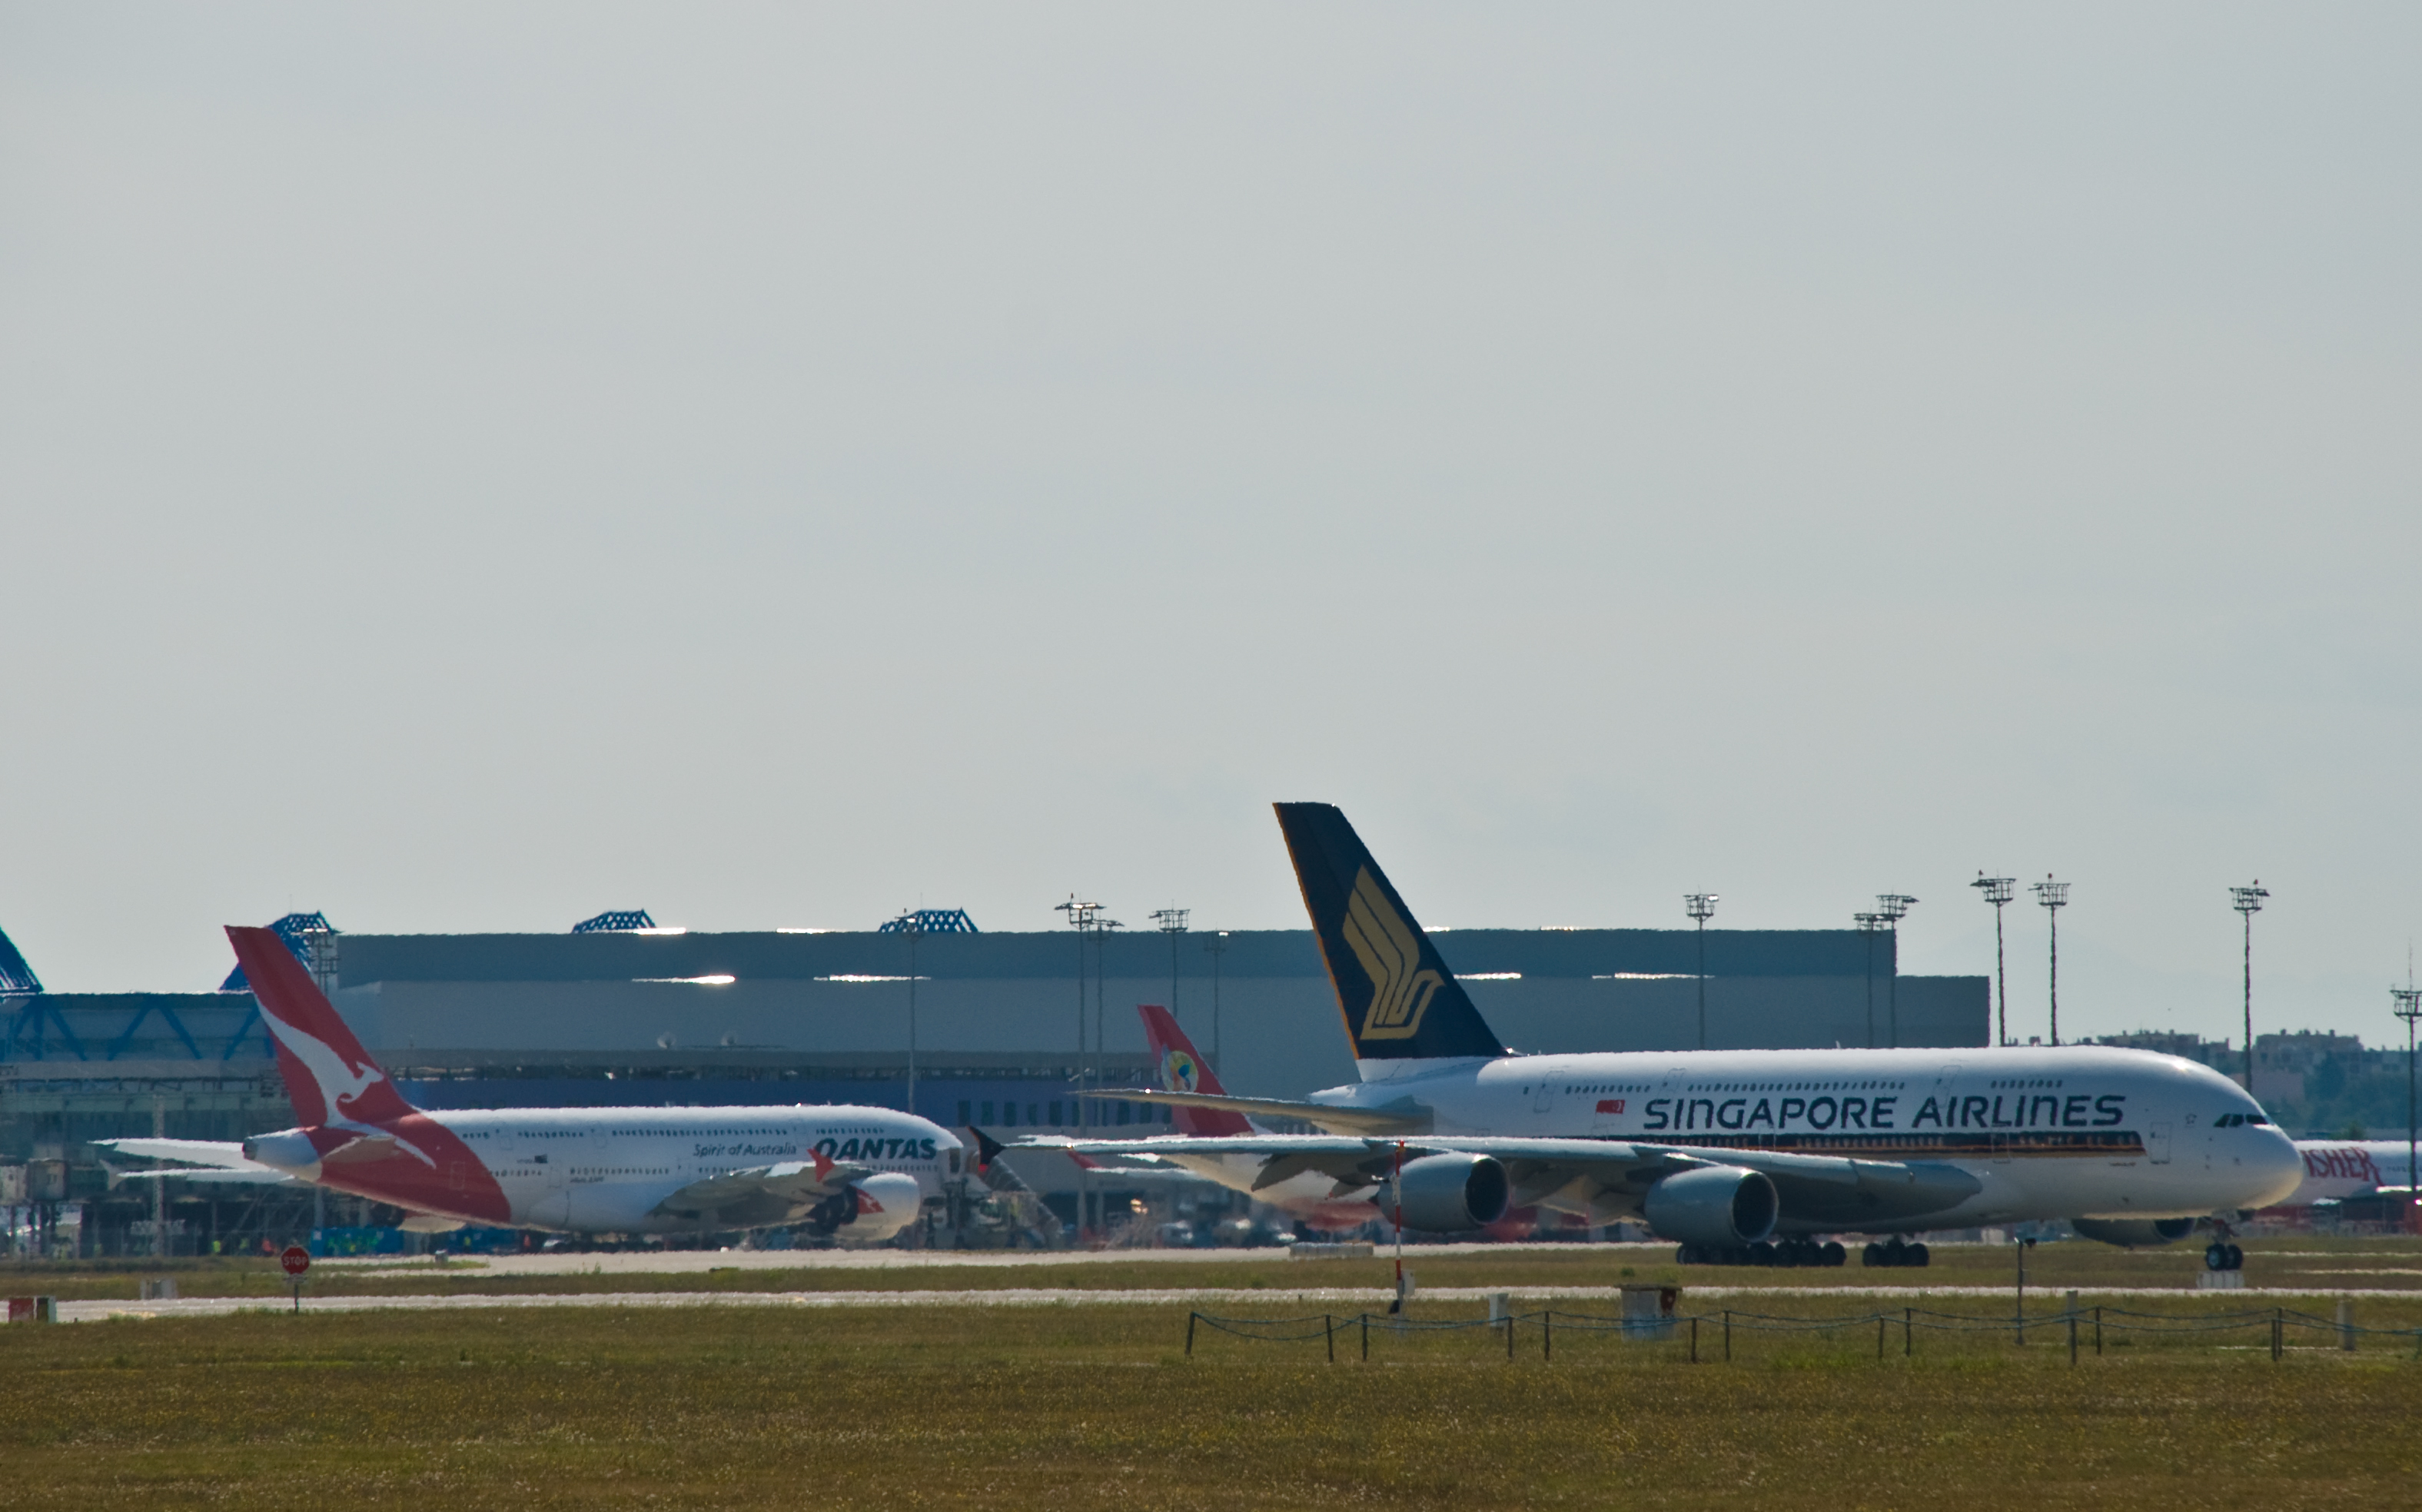
[[[1385,1076],[1385,1061],[1506,1054],[1347,817],[1274,807],[1364,1081]]]

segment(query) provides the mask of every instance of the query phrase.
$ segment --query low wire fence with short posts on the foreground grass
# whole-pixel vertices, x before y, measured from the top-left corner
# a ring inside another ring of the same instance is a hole
[[[1892,1345],[1899,1345],[1904,1357],[1916,1357],[1918,1335],[2013,1335],[2015,1342],[2025,1345],[2027,1335],[2051,1333],[2056,1342],[2066,1342],[2068,1364],[2076,1364],[2083,1352],[2102,1354],[2105,1342],[2117,1335],[2119,1342],[2134,1342],[2136,1338],[2165,1340],[2165,1338],[2204,1338],[2223,1333],[2252,1330],[2257,1338],[2267,1335],[2269,1357],[2277,1362],[2289,1350],[2289,1338],[2311,1338],[2315,1333],[2328,1335],[2342,1352],[2354,1352],[2361,1340],[2398,1340],[2412,1352],[2412,1359],[2422,1362],[2422,1328],[2366,1328],[2357,1325],[2347,1308],[2340,1308],[2337,1318],[2323,1318],[2318,1313],[2306,1313],[2298,1308],[2274,1306],[2274,1308],[2243,1308],[2233,1313],[2151,1313],[2141,1308],[2119,1306],[2080,1306],[2061,1308],[2056,1313],[1945,1313],[1938,1308],[1904,1306],[1896,1311],[1877,1313],[1841,1313],[1826,1318],[1800,1318],[1785,1313],[1751,1313],[1751,1311],[1715,1311],[1715,1313],[1666,1313],[1654,1318],[1608,1318],[1601,1313],[1572,1313],[1565,1308],[1540,1308],[1533,1313],[1504,1313],[1494,1318],[1405,1318],[1400,1313],[1320,1313],[1305,1318],[1218,1318],[1211,1313],[1189,1311],[1187,1313],[1187,1359],[1194,1357],[1194,1342],[1199,1330],[1223,1333],[1252,1342],[1305,1342],[1322,1340],[1330,1364],[1337,1362],[1339,1342],[1347,1342],[1361,1359],[1371,1359],[1371,1338],[1378,1335],[1385,1345],[1388,1340],[1405,1340],[1419,1335],[1453,1335],[1453,1333],[1490,1333],[1504,1335],[1506,1359],[1514,1359],[1519,1333],[1538,1333],[1538,1352],[1543,1362],[1555,1359],[1555,1338],[1565,1335],[1623,1335],[1640,1342],[1683,1342],[1688,1340],[1688,1359],[1698,1364],[1703,1359],[1703,1333],[1705,1352],[1717,1359],[1732,1359],[1734,1335],[1846,1335],[1858,1330],[1875,1330],[1875,1357],[1884,1359]],[[2216,1342],[2216,1340],[2214,1340]],[[2260,1347],[2260,1345],[2255,1345]]]

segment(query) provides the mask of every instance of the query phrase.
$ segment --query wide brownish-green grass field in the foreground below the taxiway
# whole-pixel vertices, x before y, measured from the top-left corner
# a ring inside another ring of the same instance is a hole
[[[2422,1299],[2364,1308],[2422,1323]],[[1877,1359],[1858,1328],[1744,1333],[1724,1364],[1710,1333],[1693,1367],[1582,1333],[1550,1364],[1528,1325],[1514,1362],[1485,1330],[1383,1335],[1371,1364],[1182,1338],[1165,1306],[0,1328],[0,1451],[12,1507],[82,1510],[2422,1502],[2422,1364],[2388,1342],[2274,1364],[2260,1330],[2114,1338],[2071,1367],[2059,1330],[1913,1359],[1894,1330]]]

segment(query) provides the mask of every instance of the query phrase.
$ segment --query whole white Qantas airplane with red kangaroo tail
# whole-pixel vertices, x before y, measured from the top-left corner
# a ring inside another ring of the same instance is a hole
[[[262,1001],[303,1127],[242,1158],[390,1202],[414,1228],[707,1233],[807,1224],[879,1243],[957,1173],[959,1141],[889,1107],[489,1107],[404,1102],[320,986],[266,928],[228,928]],[[136,1149],[126,1153],[179,1151]],[[182,1175],[182,1173],[160,1173]]]

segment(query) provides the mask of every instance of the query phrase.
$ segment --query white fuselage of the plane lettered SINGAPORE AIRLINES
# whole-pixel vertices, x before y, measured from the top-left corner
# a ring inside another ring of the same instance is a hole
[[[1431,1136],[1594,1136],[1957,1166],[1981,1190],[1899,1228],[2163,1219],[2267,1207],[2303,1163],[2240,1086],[2177,1056],[2105,1047],[1712,1049],[1368,1064],[1313,1093],[1412,1100]],[[1790,1228],[1790,1224],[1785,1224]],[[1889,1226],[1887,1226],[1889,1228]],[[1877,1228],[1884,1231],[1884,1228]]]

